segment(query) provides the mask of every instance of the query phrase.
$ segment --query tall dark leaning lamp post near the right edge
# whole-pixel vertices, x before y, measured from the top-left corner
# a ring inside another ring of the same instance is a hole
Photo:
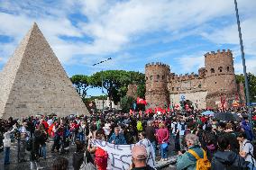
[[[233,1],[235,6],[236,21],[237,21],[237,27],[238,27],[238,33],[239,33],[240,49],[242,53],[242,67],[243,67],[243,75],[245,80],[246,103],[247,103],[248,112],[249,112],[249,119],[251,121],[250,93],[249,93],[248,78],[246,73],[246,65],[245,65],[245,58],[244,58],[243,45],[242,45],[242,33],[241,33],[240,20],[239,20],[238,8],[237,8],[237,1],[236,0],[233,0]]]

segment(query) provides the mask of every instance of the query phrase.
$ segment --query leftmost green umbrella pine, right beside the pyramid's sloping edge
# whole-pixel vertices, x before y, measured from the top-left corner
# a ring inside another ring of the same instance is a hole
[[[89,76],[84,75],[75,75],[71,76],[70,80],[72,84],[77,89],[78,94],[85,99],[87,96],[87,89],[90,87],[89,85]]]

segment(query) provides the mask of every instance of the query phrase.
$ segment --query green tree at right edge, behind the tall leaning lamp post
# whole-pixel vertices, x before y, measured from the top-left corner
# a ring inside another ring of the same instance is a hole
[[[253,75],[252,73],[248,73],[247,77],[248,77],[248,84],[249,84],[250,102],[255,103],[256,102],[256,76]],[[235,79],[237,83],[242,82],[245,87],[245,81],[244,81],[243,75],[236,75]],[[245,93],[245,89],[244,89],[244,93]]]

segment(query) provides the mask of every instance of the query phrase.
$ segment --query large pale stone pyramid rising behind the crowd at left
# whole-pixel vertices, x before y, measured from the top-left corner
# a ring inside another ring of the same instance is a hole
[[[0,73],[0,118],[56,113],[87,114],[87,108],[37,24]]]

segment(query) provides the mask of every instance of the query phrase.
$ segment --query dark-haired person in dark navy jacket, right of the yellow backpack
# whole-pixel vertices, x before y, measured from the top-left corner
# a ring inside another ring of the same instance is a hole
[[[230,139],[227,135],[218,138],[219,150],[212,159],[211,170],[245,170],[248,163],[244,158],[230,150]]]

